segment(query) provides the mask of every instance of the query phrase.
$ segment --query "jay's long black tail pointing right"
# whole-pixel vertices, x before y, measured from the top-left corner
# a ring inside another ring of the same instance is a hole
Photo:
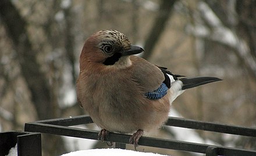
[[[183,82],[182,90],[193,88],[195,86],[209,84],[211,82],[222,81],[222,79],[215,77],[181,78],[179,80]]]

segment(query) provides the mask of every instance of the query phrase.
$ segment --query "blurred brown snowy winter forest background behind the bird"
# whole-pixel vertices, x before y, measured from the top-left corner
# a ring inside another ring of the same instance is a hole
[[[23,130],[29,121],[84,114],[75,90],[79,55],[85,39],[103,29],[123,32],[143,46],[141,57],[175,74],[223,79],[187,90],[170,115],[256,126],[255,0],[1,0],[0,132]],[[191,136],[182,130],[161,132],[170,139]],[[256,149],[251,137],[199,130],[193,135],[202,142]],[[43,154],[80,149],[76,139],[63,138],[43,135]],[[81,147],[88,146],[105,144],[88,141]]]

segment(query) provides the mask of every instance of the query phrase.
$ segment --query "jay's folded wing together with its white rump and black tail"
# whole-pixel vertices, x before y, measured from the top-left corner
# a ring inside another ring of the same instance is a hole
[[[143,88],[145,97],[151,100],[161,99],[169,89],[172,95],[170,99],[173,101],[185,89],[221,81],[215,77],[179,78],[184,76],[172,74],[167,68],[155,66],[140,57],[131,56],[131,61],[135,81]]]

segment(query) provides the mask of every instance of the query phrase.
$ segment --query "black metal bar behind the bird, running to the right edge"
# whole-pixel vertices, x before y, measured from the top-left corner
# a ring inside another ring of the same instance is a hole
[[[211,132],[228,133],[232,135],[256,137],[256,128],[248,128],[245,126],[234,126],[227,124],[216,124],[214,122],[202,122],[193,119],[169,117],[166,125],[190,129],[207,130]]]

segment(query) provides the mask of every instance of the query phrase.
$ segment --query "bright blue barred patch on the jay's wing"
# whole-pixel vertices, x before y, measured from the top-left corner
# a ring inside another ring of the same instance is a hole
[[[153,92],[147,92],[144,95],[151,100],[158,100],[161,99],[163,96],[167,94],[168,87],[162,83],[158,89],[154,90]]]

